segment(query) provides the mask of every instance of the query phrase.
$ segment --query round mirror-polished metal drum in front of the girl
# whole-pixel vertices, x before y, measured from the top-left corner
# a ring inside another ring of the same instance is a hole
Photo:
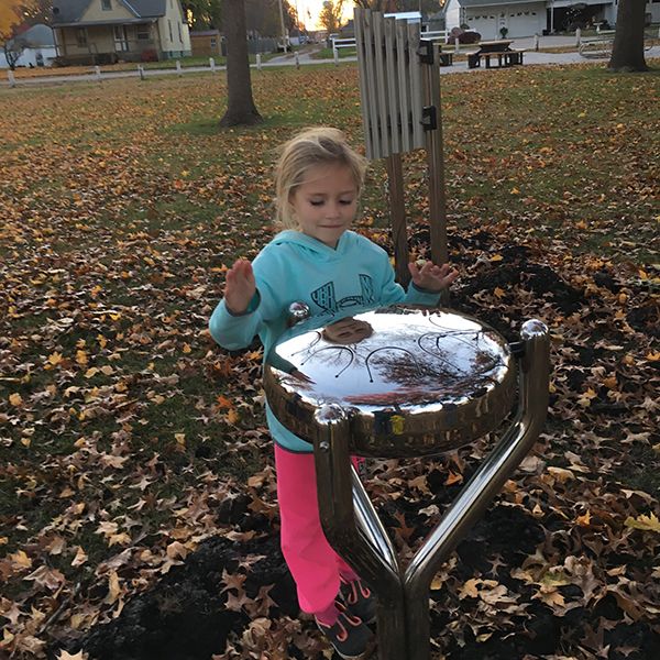
[[[494,430],[514,405],[509,345],[472,317],[396,305],[345,326],[284,341],[264,370],[271,409],[309,442],[317,411],[333,404],[350,418],[356,454],[438,454]]]

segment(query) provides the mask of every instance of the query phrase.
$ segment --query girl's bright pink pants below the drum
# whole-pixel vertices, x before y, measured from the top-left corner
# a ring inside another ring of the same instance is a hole
[[[304,612],[327,612],[339,593],[339,576],[356,578],[330,547],[321,528],[314,454],[275,444],[282,552],[294,576]]]

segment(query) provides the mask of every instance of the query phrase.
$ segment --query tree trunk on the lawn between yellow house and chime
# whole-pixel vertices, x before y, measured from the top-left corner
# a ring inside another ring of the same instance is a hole
[[[227,38],[227,112],[221,127],[249,125],[262,121],[252,99],[244,0],[224,0],[222,23]]]

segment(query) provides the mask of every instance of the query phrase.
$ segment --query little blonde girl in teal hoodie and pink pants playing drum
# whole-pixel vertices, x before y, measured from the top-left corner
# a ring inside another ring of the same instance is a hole
[[[458,273],[447,264],[409,264],[406,293],[394,280],[387,253],[350,231],[364,183],[365,160],[330,128],[308,129],[287,142],[277,163],[276,219],[284,229],[253,263],[238,260],[227,273],[224,298],[210,320],[226,349],[248,346],[258,334],[264,360],[280,341],[358,311],[394,302],[438,304]],[[292,302],[310,309],[289,328]],[[315,616],[342,658],[372,646],[369,587],[329,546],[319,520],[312,447],[294,436],[266,404],[275,441],[282,550],[304,612]]]

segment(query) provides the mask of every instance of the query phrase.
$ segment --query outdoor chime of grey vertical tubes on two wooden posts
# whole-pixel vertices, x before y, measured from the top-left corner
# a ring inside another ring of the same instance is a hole
[[[366,157],[385,158],[396,276],[407,284],[403,153],[426,148],[431,257],[448,261],[440,45],[420,38],[419,23],[369,9],[355,8],[354,25]]]

